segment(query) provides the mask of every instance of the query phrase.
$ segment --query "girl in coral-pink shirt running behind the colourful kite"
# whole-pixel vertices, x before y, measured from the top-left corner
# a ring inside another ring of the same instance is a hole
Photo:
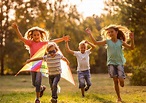
[[[42,28],[32,27],[30,28],[24,35],[19,31],[19,28],[16,23],[12,24],[12,27],[16,31],[19,39],[24,42],[26,45],[26,49],[30,52],[30,58],[44,45],[49,42],[49,33]],[[62,38],[54,39],[54,42],[62,42],[64,40],[68,40],[68,36],[64,36]],[[36,91],[36,100],[35,103],[40,103],[39,98],[43,96],[43,92],[46,89],[46,86],[41,85],[42,82],[42,73],[41,72],[33,72],[31,71],[32,76],[32,84],[35,87]]]

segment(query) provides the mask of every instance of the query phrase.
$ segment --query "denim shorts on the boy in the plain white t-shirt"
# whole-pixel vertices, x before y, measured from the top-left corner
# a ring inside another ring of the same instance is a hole
[[[90,87],[91,86],[90,70],[78,71],[77,73],[78,73],[79,88],[84,88],[86,85]]]

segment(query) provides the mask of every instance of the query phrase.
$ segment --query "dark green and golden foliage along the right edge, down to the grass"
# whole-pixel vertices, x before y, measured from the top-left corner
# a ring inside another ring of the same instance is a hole
[[[144,72],[146,62],[146,1],[145,0],[112,0],[107,5],[108,10],[112,11],[113,16],[119,17],[119,23],[127,26],[135,34],[135,49],[125,50],[127,58],[126,66],[131,68],[133,76],[131,84],[145,85],[146,73]]]

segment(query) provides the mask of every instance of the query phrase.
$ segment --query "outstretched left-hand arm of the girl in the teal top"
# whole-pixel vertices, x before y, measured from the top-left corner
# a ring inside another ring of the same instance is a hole
[[[92,33],[91,33],[91,30],[89,28],[86,28],[86,32],[87,34],[89,35],[89,37],[91,38],[92,42],[94,45],[105,45],[106,44],[106,41],[96,41],[93,36],[92,36]]]

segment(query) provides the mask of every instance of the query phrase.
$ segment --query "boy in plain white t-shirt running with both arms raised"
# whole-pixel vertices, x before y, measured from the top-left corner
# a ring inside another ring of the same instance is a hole
[[[90,45],[91,48],[87,49],[87,44]],[[95,48],[95,46],[92,43],[83,40],[79,43],[79,51],[73,51],[70,49],[68,45],[68,41],[66,41],[66,48],[70,54],[73,54],[77,58],[77,62],[78,62],[77,73],[78,73],[79,89],[81,89],[82,97],[84,97],[85,96],[84,92],[87,91],[91,86],[89,54]]]

